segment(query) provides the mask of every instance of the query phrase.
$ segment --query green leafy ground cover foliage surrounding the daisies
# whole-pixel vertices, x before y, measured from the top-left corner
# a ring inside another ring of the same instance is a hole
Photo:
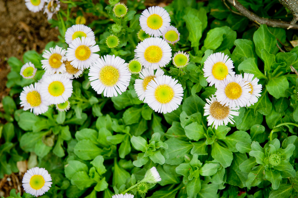
[[[278,1],[240,2],[259,16],[291,20]],[[146,8],[143,1],[127,1],[124,18],[115,17],[113,7],[104,1],[64,3],[67,10],[59,11],[58,20],[50,20],[59,27],[60,42],[48,43],[46,50],[55,45],[67,48],[64,34],[76,23],[70,9],[79,6],[77,16],[82,11],[99,16],[87,24],[94,30],[98,54],[115,54],[127,63],[133,59],[140,41],[139,16]],[[19,109],[19,94],[34,82],[19,73],[24,63],[32,62],[40,79],[43,58],[35,51],[26,52],[23,60],[11,57],[10,96],[2,100],[5,113],[1,116],[7,123],[0,128],[5,140],[0,145],[0,178],[18,172],[17,161],[28,160],[28,168],[43,167],[51,174],[53,184],[44,198],[109,198],[135,185],[156,166],[162,180],[148,185],[147,193],[137,187],[129,193],[151,198],[298,196],[298,84],[290,68],[298,69],[298,47],[289,43],[297,32],[252,24],[218,0],[174,0],[164,8],[180,32],[179,42],[171,45],[172,54],[179,50],[190,54],[190,64],[183,71],[172,63],[163,68],[184,89],[179,108],[160,114],[142,103],[133,86],[137,75],[132,75],[122,95],[98,95],[85,70],[72,82],[70,110],[60,112],[51,105],[35,116]],[[111,27],[115,23],[121,25],[119,32]],[[105,43],[111,34],[120,41],[112,49]],[[207,85],[202,68],[215,52],[228,54],[236,74],[252,73],[263,86],[256,104],[241,107],[235,124],[217,130],[207,127],[203,116],[205,99],[216,89]],[[11,197],[20,195],[12,191]]]

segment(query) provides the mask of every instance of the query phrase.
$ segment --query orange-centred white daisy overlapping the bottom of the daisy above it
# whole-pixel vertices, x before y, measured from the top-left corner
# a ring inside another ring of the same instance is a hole
[[[95,40],[91,38],[75,38],[66,51],[66,58],[68,61],[72,61],[71,64],[75,68],[84,69],[89,68],[94,61],[99,58],[99,46],[95,45]]]

